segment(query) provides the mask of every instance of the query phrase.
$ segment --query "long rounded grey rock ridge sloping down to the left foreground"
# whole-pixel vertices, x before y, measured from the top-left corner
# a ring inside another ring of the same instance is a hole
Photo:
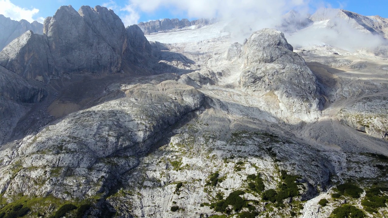
[[[204,97],[192,87],[166,81],[112,86],[100,101],[3,150],[0,190],[9,197],[19,192],[66,199],[108,194],[171,126],[202,106]],[[31,180],[39,182],[32,185]]]

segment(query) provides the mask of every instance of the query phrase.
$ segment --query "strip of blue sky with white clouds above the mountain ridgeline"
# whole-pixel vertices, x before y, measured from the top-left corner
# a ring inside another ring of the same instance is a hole
[[[372,0],[0,0],[0,14],[13,20],[42,22],[53,16],[61,5],[101,5],[113,9],[125,26],[163,18],[197,18],[286,13],[291,9],[314,13],[319,7],[341,8],[365,16],[388,17],[388,1]],[[231,10],[232,9],[232,10]]]

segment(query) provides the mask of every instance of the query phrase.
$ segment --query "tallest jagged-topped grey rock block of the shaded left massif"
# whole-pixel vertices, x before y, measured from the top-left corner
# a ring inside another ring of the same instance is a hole
[[[117,73],[121,70],[125,27],[112,10],[103,7],[62,6],[44,22],[55,74]]]

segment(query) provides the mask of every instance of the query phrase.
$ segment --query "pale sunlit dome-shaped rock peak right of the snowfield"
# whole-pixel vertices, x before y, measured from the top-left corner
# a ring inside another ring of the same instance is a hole
[[[256,31],[244,45],[232,45],[228,57],[242,62],[241,87],[265,96],[274,116],[303,121],[320,116],[324,100],[316,78],[280,31]]]

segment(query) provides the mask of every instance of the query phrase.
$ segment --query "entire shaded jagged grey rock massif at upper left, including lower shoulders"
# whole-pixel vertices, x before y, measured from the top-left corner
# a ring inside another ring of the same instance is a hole
[[[72,73],[118,73],[151,56],[139,28],[125,29],[112,10],[62,6],[44,23],[45,35],[28,32],[0,53],[0,65],[24,78],[49,83]],[[136,60],[136,61],[135,61]]]

